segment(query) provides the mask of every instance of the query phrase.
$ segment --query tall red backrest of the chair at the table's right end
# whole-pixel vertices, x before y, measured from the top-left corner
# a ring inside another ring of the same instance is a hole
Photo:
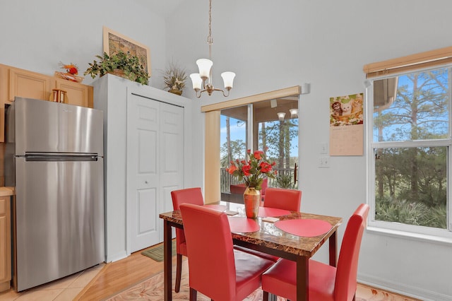
[[[356,293],[359,249],[368,214],[369,205],[362,203],[348,220],[340,246],[334,300],[352,300]]]

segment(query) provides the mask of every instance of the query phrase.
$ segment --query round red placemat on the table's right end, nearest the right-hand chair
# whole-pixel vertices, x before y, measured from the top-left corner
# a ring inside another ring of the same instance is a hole
[[[331,224],[324,220],[297,219],[280,220],[275,223],[275,227],[293,235],[314,237],[328,232]]]

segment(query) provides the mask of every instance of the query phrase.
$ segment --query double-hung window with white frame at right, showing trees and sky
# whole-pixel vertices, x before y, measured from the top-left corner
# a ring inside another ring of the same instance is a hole
[[[451,70],[429,66],[369,81],[369,225],[452,237]]]

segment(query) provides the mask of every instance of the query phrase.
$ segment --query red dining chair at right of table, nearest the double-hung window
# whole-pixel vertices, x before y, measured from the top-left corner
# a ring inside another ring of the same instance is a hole
[[[338,267],[309,260],[309,300],[355,300],[359,248],[367,223],[369,205],[359,205],[345,229],[340,247]],[[262,276],[263,300],[268,293],[297,300],[297,263],[280,259]]]

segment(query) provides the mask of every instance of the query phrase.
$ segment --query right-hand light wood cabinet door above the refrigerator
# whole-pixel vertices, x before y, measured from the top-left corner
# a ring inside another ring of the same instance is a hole
[[[67,92],[67,101],[65,103],[69,105],[80,105],[81,107],[93,107],[93,101],[90,101],[90,98],[93,98],[92,86],[59,78],[56,78],[55,81],[55,87],[57,89]]]

